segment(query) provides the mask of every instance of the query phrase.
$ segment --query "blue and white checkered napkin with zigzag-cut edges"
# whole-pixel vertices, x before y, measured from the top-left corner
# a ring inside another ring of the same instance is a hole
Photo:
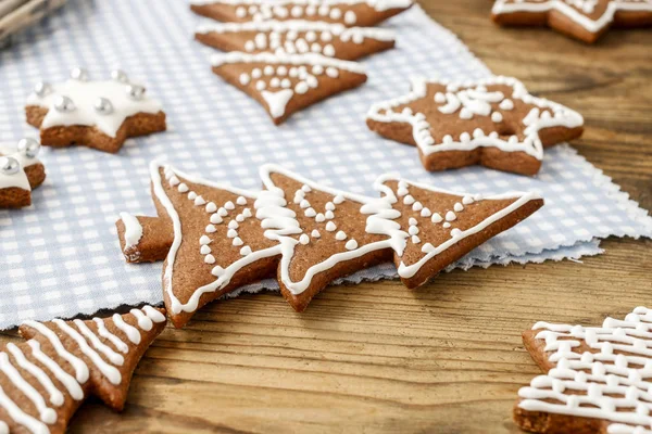
[[[595,238],[652,232],[647,212],[566,145],[547,152],[536,178],[482,167],[428,174],[414,148],[368,131],[369,105],[408,91],[411,76],[490,74],[419,8],[387,23],[398,31],[398,47],[364,62],[366,85],[280,127],[211,73],[212,50],[192,41],[197,22],[188,4],[176,0],[72,0],[0,52],[0,141],[35,133],[24,120],[25,97],[36,81],[64,80],[76,65],[96,78],[120,66],[141,79],[162,100],[170,123],[170,131],[128,140],[117,155],[84,148],[42,151],[48,180],[34,192],[35,205],[0,210],[0,329],[28,318],[161,302],[161,264],[126,265],[114,229],[122,210],[154,213],[148,163],[161,156],[186,171],[250,189],[261,184],[258,166],[276,162],[356,193],[375,195],[374,179],[398,171],[449,190],[534,190],[546,197],[540,212],[477,248],[460,263],[463,268],[577,258],[601,252]],[[348,281],[393,275],[392,266],[384,266]]]

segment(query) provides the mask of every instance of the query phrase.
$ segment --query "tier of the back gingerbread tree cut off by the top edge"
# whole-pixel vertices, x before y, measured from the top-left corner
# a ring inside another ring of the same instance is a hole
[[[305,20],[368,27],[411,5],[412,0],[193,0],[190,9],[222,22]]]

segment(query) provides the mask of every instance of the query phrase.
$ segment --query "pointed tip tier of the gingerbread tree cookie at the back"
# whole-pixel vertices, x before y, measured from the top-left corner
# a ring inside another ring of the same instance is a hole
[[[274,124],[366,81],[362,65],[319,54],[247,54],[213,58],[213,72],[256,100]]]

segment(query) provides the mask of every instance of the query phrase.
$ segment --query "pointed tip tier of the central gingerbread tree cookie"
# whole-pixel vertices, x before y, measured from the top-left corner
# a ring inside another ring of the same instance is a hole
[[[534,193],[481,197],[391,175],[380,177],[376,189],[383,200],[363,208],[375,214],[367,227],[400,241],[394,243],[394,264],[401,281],[411,289],[543,206],[543,200]],[[396,214],[400,217],[394,218]]]

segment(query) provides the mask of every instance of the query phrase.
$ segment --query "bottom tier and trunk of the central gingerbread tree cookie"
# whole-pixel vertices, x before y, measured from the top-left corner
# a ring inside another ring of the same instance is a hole
[[[117,229],[127,257],[158,260],[165,254],[163,295],[176,327],[206,303],[274,276],[280,247],[263,235],[256,193],[156,162],[150,169],[159,220],[123,214]]]

